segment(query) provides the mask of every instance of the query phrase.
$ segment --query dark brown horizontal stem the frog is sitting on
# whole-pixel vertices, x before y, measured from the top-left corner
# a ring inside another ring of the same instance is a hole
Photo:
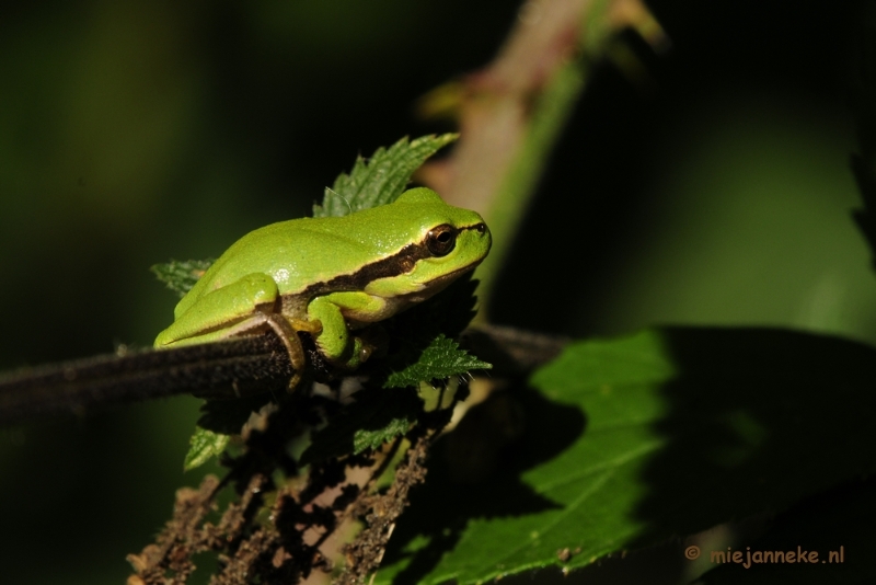
[[[462,343],[494,364],[492,376],[503,377],[550,360],[565,340],[485,326],[468,330]],[[269,334],[65,362],[0,377],[0,424],[184,393],[203,398],[283,393],[293,372],[283,344]]]

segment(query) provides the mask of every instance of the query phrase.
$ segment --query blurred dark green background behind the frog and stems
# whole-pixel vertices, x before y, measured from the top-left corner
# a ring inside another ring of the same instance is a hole
[[[849,210],[855,2],[661,0],[672,41],[597,68],[494,320],[610,335],[769,324],[876,341]],[[149,266],[301,216],[485,65],[511,1],[7,2],[0,8],[0,368],[149,346]],[[4,583],[119,583],[169,517],[198,402],[0,429]],[[209,470],[208,470],[209,471]]]

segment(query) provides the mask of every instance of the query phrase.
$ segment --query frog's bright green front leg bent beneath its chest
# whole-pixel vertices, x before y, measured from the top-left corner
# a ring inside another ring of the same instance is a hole
[[[368,359],[373,347],[350,335],[347,317],[362,322],[379,321],[385,308],[384,299],[357,291],[332,292],[311,300],[308,317],[322,323],[322,332],[314,336],[320,352],[338,366],[358,367]]]

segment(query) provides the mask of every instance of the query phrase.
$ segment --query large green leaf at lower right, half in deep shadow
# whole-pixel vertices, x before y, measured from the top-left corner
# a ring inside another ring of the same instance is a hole
[[[495,433],[436,446],[377,582],[584,566],[786,509],[876,471],[874,380],[873,348],[788,331],[668,328],[570,345],[533,375],[538,391],[509,393],[525,426],[493,475],[453,479]]]

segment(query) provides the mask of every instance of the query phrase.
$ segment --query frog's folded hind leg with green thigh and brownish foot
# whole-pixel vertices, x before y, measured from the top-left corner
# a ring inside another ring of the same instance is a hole
[[[292,324],[276,312],[279,290],[267,274],[253,273],[207,292],[159,333],[155,347],[207,343],[245,335],[269,326],[286,346],[295,376],[289,390],[301,381],[307,366],[304,349]]]

